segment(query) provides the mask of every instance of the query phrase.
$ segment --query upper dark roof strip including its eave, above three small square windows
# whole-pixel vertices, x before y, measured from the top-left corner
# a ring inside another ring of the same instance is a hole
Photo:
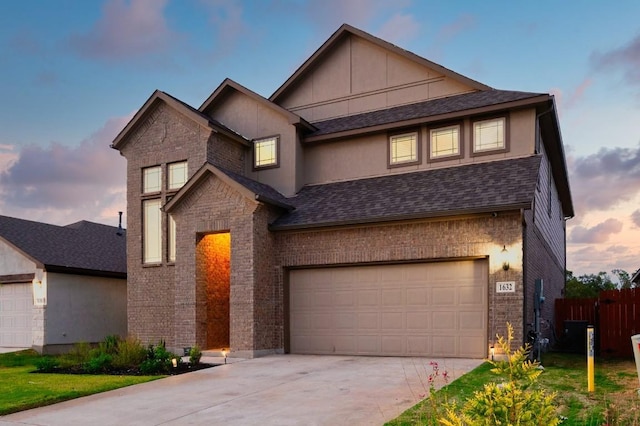
[[[464,115],[489,112],[490,109],[513,108],[549,100],[545,93],[516,92],[509,90],[486,90],[465,93],[446,98],[430,99],[414,104],[402,105],[378,111],[365,112],[347,117],[313,123],[317,131],[306,136],[305,140],[313,142],[335,137],[353,130],[383,130],[385,126],[401,127],[421,124],[426,118],[430,121],[452,119],[455,113]],[[361,132],[358,132],[361,133]]]

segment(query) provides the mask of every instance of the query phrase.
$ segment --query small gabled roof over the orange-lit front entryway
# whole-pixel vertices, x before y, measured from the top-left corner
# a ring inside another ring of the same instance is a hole
[[[191,179],[189,179],[189,181],[182,188],[180,188],[178,193],[173,198],[171,198],[171,200],[167,204],[164,205],[163,210],[166,212],[171,212],[171,210],[173,210],[175,206],[184,199],[184,197],[186,197],[195,188],[197,188],[200,182],[206,179],[209,175],[214,175],[227,185],[240,192],[249,200],[271,204],[285,210],[293,209],[293,206],[288,203],[287,198],[269,185],[256,182],[230,170],[214,166],[213,164],[207,162],[204,163],[204,165],[200,167],[200,169],[191,177]]]

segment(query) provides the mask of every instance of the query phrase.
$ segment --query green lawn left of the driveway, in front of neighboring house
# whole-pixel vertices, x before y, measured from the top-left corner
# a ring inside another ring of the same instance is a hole
[[[0,415],[164,377],[34,373],[39,358],[30,350],[0,354]]]

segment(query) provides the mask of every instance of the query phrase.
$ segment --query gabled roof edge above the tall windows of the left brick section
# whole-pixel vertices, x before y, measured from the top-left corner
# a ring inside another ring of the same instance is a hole
[[[180,101],[179,99],[176,99],[173,96],[160,90],[156,90],[151,94],[149,99],[147,99],[147,101],[144,103],[144,105],[142,105],[142,107],[133,116],[129,123],[127,123],[124,129],[120,131],[118,136],[116,136],[116,138],[113,140],[113,143],[111,144],[111,148],[121,150],[122,147],[126,144],[129,134],[138,126],[139,123],[144,122],[144,120],[147,118],[147,115],[154,110],[154,106],[157,105],[158,102],[164,102],[169,107],[190,118],[202,127],[207,127],[215,132],[224,134],[232,140],[240,142],[244,145],[249,145],[249,140],[240,135],[238,132],[229,129],[224,124],[213,120],[211,117],[206,116],[205,114]]]

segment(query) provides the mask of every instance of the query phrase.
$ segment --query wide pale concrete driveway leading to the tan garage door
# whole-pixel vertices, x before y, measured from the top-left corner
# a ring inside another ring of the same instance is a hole
[[[273,355],[11,414],[0,425],[381,425],[428,393],[431,361],[452,378],[482,363]]]

